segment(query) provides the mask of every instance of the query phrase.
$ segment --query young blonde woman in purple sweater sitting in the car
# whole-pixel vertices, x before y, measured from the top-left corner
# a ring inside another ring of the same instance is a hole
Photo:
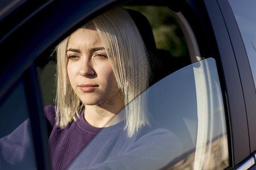
[[[149,118],[147,50],[124,8],[86,23],[56,51],[56,104],[45,108],[52,169],[159,169],[179,155],[176,135]]]

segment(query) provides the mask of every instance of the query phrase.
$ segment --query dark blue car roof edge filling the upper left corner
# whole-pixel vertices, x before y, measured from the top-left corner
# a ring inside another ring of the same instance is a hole
[[[44,50],[55,46],[63,37],[79,27],[79,23],[84,18],[89,20],[93,17],[90,15],[97,15],[95,11],[115,1],[75,0],[72,2],[26,2],[19,7],[13,7],[15,9],[1,20],[0,48],[2,55],[8,57],[0,63],[2,80],[0,98]],[[30,6],[31,10],[22,14],[31,4],[34,5]],[[6,5],[3,6],[6,7]],[[67,12],[69,8],[77,10]],[[15,19],[19,14],[22,16]]]

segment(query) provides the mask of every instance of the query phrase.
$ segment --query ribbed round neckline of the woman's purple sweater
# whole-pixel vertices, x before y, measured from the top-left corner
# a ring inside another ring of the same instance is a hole
[[[80,130],[85,131],[86,133],[97,135],[108,135],[111,133],[115,133],[117,131],[124,131],[125,129],[125,120],[122,120],[121,122],[118,122],[117,124],[106,128],[97,128],[92,125],[89,125],[88,122],[86,122],[84,119],[84,109],[82,109],[80,117],[77,118],[76,123],[79,126]]]

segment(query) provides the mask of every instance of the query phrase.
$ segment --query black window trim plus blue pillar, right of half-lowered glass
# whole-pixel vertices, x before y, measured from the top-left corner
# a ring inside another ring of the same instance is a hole
[[[216,59],[226,106],[229,166],[235,167],[255,150],[256,96],[251,93],[253,76],[233,12],[223,0],[185,0],[174,10],[181,11],[191,25],[201,57]]]

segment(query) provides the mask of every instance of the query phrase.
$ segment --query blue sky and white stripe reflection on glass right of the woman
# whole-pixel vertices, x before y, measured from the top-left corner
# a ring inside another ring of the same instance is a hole
[[[225,113],[213,58],[176,71],[147,92],[149,112],[183,144],[183,152],[171,160],[170,169],[228,166]]]

